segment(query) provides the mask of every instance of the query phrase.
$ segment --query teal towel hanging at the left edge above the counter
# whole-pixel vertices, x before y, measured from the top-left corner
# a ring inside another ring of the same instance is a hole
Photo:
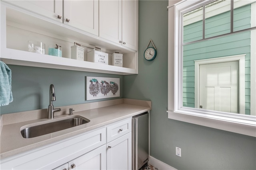
[[[12,71],[0,61],[0,106],[6,106],[13,101],[12,98]]]

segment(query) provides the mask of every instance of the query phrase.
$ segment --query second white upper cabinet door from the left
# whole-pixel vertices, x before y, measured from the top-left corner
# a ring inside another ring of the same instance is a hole
[[[64,0],[63,2],[65,24],[98,35],[98,0]]]

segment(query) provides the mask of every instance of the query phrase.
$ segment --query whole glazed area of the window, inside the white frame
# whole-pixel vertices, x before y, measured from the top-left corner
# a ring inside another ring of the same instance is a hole
[[[182,107],[256,114],[256,30],[246,30],[255,27],[256,2],[232,2],[216,0],[183,14]]]

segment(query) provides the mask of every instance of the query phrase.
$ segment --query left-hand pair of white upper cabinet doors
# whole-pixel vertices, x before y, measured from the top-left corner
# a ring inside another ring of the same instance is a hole
[[[15,0],[6,2],[98,35],[98,0]]]

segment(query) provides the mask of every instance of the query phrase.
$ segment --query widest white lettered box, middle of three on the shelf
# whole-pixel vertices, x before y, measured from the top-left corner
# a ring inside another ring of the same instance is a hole
[[[108,53],[103,53],[96,49],[87,53],[87,61],[101,64],[108,64]]]

